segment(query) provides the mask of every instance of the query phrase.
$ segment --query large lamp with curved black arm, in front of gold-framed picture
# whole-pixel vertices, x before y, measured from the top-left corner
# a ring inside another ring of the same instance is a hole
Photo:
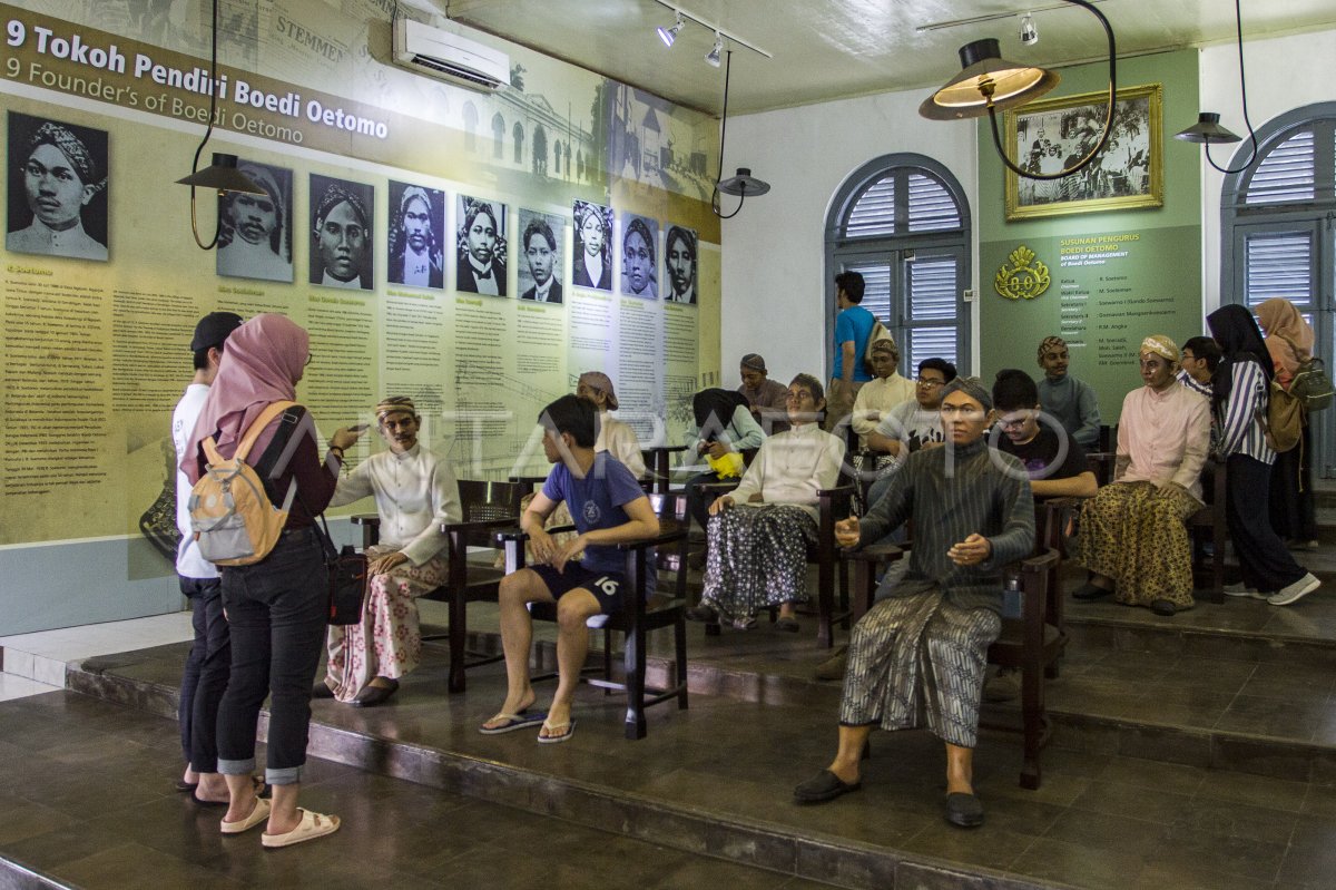
[[[1092,3],[1088,0],[1063,0],[1063,3],[1089,9],[1104,25],[1109,40],[1109,98],[1105,104],[1104,128],[1094,147],[1083,158],[1057,172],[1037,174],[1022,170],[1007,156],[1006,148],[1002,147],[997,112],[1017,108],[1038,99],[1057,87],[1059,78],[1055,72],[1038,65],[1002,59],[1002,51],[994,37],[985,37],[961,47],[963,71],[925,99],[923,104],[919,106],[919,114],[930,120],[963,120],[987,115],[993,127],[993,146],[997,148],[998,156],[1007,170],[1025,179],[1062,179],[1088,167],[1104,151],[1109,142],[1109,132],[1113,130],[1113,115],[1117,110],[1118,96],[1118,49],[1113,37],[1113,25]]]

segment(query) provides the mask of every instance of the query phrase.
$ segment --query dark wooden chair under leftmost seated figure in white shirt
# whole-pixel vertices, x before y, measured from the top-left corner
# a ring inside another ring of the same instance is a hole
[[[522,485],[514,482],[490,482],[460,480],[460,504],[464,521],[445,523],[441,533],[446,536],[446,581],[424,599],[449,603],[450,624],[445,633],[424,633],[422,640],[448,639],[450,644],[450,692],[464,692],[465,671],[500,661],[502,655],[473,652],[468,649],[468,604],[489,600],[496,601],[497,587],[504,572],[469,564],[469,547],[493,547],[496,529],[513,528],[520,521],[520,498],[525,494]],[[370,547],[379,539],[379,517],[354,516],[353,523],[362,527],[362,544]]]

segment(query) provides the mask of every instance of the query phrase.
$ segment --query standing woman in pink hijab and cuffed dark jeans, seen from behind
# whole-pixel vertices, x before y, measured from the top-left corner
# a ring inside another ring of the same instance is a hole
[[[297,384],[310,361],[305,330],[283,315],[251,318],[227,338],[227,351],[208,390],[180,469],[198,481],[206,469],[200,442],[212,436],[218,452],[231,457],[257,417],[273,402],[295,401]],[[279,420],[269,424],[251,454],[274,438]],[[297,482],[287,524],[274,549],[254,565],[219,567],[223,608],[231,628],[232,665],[218,706],[218,771],[227,780],[223,834],[240,834],[266,823],[266,847],[286,847],[333,834],[338,817],[297,806],[311,718],[311,682],[325,644],[329,608],[325,560],[315,535],[315,514],[334,494],[343,449],[359,433],[341,429],[321,457],[315,421],[309,413],[294,428],[270,473],[271,490]],[[255,795],[255,723],[270,698],[266,780],[273,802]]]

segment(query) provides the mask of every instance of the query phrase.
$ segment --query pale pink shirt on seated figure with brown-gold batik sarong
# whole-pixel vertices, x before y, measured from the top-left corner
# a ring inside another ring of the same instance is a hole
[[[1120,482],[1177,482],[1201,500],[1201,468],[1210,449],[1210,402],[1174,381],[1162,393],[1142,386],[1122,400]]]

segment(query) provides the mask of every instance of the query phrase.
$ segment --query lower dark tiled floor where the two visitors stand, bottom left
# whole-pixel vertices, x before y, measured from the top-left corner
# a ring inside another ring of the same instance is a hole
[[[172,722],[72,692],[0,704],[0,855],[86,890],[823,885],[313,760],[302,803],[338,834],[263,851],[172,792]],[[0,886],[7,881],[0,866]]]

